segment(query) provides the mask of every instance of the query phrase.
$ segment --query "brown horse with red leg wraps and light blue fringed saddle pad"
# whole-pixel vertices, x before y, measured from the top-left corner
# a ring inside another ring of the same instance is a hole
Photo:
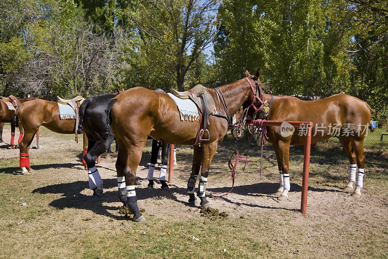
[[[33,173],[30,166],[29,154],[33,136],[41,125],[51,131],[61,134],[74,134],[76,120],[60,120],[59,107],[56,102],[46,100],[32,100],[21,104],[16,114],[24,129],[24,137],[20,142],[20,168],[24,173]],[[88,142],[83,136],[83,150],[86,154]],[[86,169],[86,163],[83,163]]]

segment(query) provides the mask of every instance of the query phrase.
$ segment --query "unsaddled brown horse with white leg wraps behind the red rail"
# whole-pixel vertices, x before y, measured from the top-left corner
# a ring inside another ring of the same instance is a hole
[[[271,95],[265,94],[264,99],[270,102]],[[350,162],[349,181],[344,190],[353,191],[358,167],[356,189],[352,196],[361,196],[365,165],[363,142],[371,121],[371,108],[367,103],[346,94],[336,94],[316,101],[302,101],[291,96],[274,96],[268,120],[314,122],[311,143],[339,136]],[[274,147],[279,169],[280,187],[276,192],[276,195],[280,195],[278,200],[287,200],[290,190],[290,145],[305,144],[303,130],[306,127],[294,129],[295,132],[292,134],[293,127],[290,129],[290,126],[291,124],[281,127],[267,126],[267,141]],[[286,131],[286,128],[290,130]],[[236,132],[233,134],[237,135]]]

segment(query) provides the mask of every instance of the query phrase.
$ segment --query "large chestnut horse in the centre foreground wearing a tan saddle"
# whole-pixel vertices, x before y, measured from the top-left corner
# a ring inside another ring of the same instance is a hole
[[[227,114],[227,120],[226,117],[210,116],[207,128],[210,132],[209,140],[202,140],[199,144],[200,121],[181,121],[177,105],[166,93],[134,87],[110,101],[107,112],[111,115],[111,127],[119,147],[117,177],[125,177],[127,206],[134,214],[135,222],[145,221],[137,206],[134,184],[147,136],[169,144],[194,145],[193,167],[187,189],[189,203],[195,201],[194,186],[201,171],[197,196],[201,200],[201,206],[209,206],[205,189],[211,159],[219,142],[226,135],[231,117],[242,105],[261,111],[262,87],[258,70],[255,76],[248,73],[246,78],[216,88],[218,93],[215,89],[207,88],[218,106],[216,109],[222,109],[223,114]]]

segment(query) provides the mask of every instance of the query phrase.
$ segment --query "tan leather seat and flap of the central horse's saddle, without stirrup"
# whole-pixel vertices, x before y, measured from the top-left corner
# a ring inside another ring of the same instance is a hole
[[[194,92],[194,95],[190,91],[184,91],[184,92],[178,92],[175,89],[170,89],[170,93],[175,95],[176,97],[180,99],[191,99],[193,102],[197,105],[199,111],[203,113],[202,103],[200,99],[200,95],[203,96],[204,101],[206,102],[208,106],[207,113],[208,114],[215,114],[215,103],[213,97],[211,97],[210,93],[208,92],[208,89],[206,89],[205,86],[202,85],[196,85],[191,90]]]

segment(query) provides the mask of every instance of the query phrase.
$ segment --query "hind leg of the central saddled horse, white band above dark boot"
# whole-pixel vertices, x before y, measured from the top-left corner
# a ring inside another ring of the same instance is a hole
[[[127,190],[127,207],[129,208],[129,211],[133,213],[133,221],[143,222],[146,220],[146,218],[143,216],[139,207],[137,206],[135,180],[137,166],[139,165],[140,159],[142,158],[146,138],[144,141],[139,141],[136,144],[132,144],[129,141],[124,144],[121,144],[122,141],[117,142],[119,143],[119,152],[116,161],[116,170],[117,176],[124,175],[125,178],[125,185]]]

